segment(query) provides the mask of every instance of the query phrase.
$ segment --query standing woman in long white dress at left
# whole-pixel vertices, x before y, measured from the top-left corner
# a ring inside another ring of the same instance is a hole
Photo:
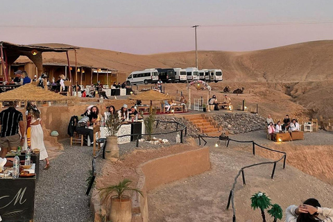
[[[44,169],[49,169],[49,155],[47,154],[44,145],[44,133],[42,126],[40,125],[40,110],[37,110],[37,107],[33,105],[30,110],[27,110],[26,114],[27,116],[31,115],[31,151],[38,148],[40,150],[40,160],[46,161]]]

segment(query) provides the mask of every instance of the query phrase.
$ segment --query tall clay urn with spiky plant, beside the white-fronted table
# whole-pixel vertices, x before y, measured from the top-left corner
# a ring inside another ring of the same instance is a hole
[[[105,158],[110,160],[111,158],[119,158],[119,146],[117,143],[117,133],[121,127],[121,121],[118,114],[109,114],[105,119],[105,130],[107,133]]]

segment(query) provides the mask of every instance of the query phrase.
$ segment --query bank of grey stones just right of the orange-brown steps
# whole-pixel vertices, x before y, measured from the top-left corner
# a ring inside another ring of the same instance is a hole
[[[230,134],[246,133],[266,128],[266,118],[251,113],[224,113],[214,115],[214,120]]]

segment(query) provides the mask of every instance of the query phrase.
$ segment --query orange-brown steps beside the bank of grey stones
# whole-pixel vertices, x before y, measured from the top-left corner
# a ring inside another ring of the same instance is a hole
[[[200,130],[200,133],[204,133],[210,137],[218,137],[223,132],[228,134],[212,117],[206,116],[205,114],[186,115],[184,118],[191,121],[191,123]]]

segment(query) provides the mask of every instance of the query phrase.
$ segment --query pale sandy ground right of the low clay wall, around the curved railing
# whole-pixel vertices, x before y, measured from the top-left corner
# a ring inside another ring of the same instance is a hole
[[[245,134],[244,140],[252,136]],[[241,139],[241,135],[238,138]],[[209,146],[213,147],[213,143]],[[211,148],[211,171],[151,191],[148,200],[150,221],[232,221],[232,210],[225,210],[225,207],[234,177],[245,165],[267,161],[236,149],[236,145]],[[273,165],[246,169],[246,187],[239,178],[235,189],[237,221],[260,221],[259,210],[250,208],[250,197],[257,191],[266,192],[272,203],[278,203],[282,209],[311,197],[318,198],[323,206],[333,207],[331,185],[289,165],[283,170],[282,164],[278,164],[275,178],[271,180],[272,169]],[[267,218],[271,221],[269,216]]]

